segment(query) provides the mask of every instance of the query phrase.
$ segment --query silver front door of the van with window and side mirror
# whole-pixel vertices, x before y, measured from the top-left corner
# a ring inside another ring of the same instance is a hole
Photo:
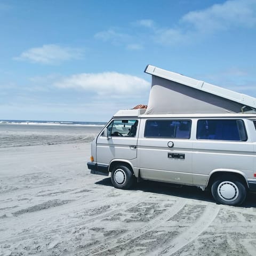
[[[97,138],[97,163],[108,166],[113,159],[137,158],[138,119],[114,119]]]

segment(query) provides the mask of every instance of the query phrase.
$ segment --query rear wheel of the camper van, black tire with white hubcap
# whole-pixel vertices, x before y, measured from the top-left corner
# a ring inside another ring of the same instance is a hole
[[[241,205],[246,194],[245,186],[236,177],[222,177],[212,184],[212,196],[220,204]]]

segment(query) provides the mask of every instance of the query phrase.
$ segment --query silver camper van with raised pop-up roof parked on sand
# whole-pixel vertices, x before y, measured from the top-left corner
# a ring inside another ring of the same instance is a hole
[[[92,174],[129,189],[141,179],[211,190],[241,205],[256,191],[256,99],[147,66],[147,109],[119,110],[91,144]]]

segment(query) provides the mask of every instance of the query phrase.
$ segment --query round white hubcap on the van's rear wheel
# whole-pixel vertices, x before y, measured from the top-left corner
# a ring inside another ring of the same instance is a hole
[[[225,201],[234,201],[239,194],[235,183],[231,181],[222,181],[218,186],[218,194]]]

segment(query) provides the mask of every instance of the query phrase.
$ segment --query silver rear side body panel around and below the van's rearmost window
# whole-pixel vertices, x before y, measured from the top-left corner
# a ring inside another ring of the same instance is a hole
[[[211,119],[209,119],[211,120]],[[227,118],[223,119],[225,122]],[[229,118],[229,120],[234,120]],[[245,180],[252,178],[255,170],[255,150],[247,127],[247,120],[239,118],[245,125],[246,141],[196,139],[193,143],[193,184],[203,186],[200,174],[209,175],[215,170],[243,173]],[[196,120],[195,120],[196,122]],[[220,119],[221,122],[221,119]],[[199,175],[198,175],[199,174]],[[199,178],[199,179],[198,179]]]

